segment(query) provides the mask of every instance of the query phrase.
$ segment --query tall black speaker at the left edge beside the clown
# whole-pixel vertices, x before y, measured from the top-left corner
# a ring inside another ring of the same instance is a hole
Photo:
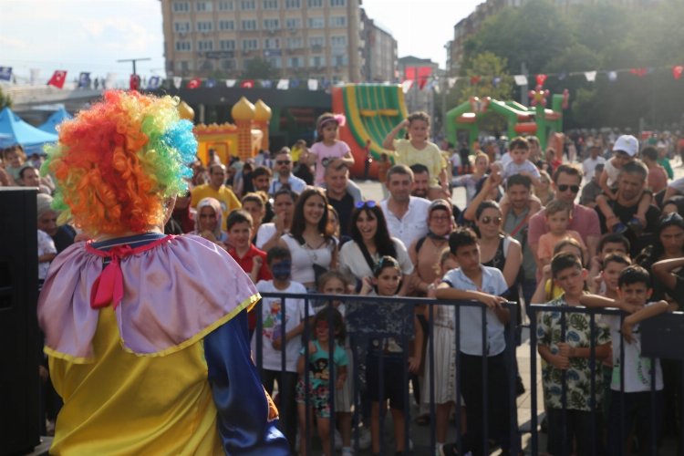
[[[0,187],[0,454],[40,442],[36,189]]]

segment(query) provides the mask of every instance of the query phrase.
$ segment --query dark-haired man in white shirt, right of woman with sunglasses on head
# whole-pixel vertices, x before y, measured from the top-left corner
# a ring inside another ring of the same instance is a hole
[[[413,171],[406,165],[394,165],[387,173],[389,198],[380,202],[389,234],[409,246],[428,233],[430,202],[411,196]]]

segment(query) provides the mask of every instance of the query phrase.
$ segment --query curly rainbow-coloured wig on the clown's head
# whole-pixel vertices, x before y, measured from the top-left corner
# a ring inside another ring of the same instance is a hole
[[[130,91],[102,101],[59,126],[42,171],[53,175],[53,207],[91,236],[144,233],[164,223],[165,203],[187,191],[197,140],[181,120],[178,98]]]

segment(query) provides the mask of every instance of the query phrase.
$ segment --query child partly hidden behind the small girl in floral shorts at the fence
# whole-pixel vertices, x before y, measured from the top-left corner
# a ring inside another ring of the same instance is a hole
[[[338,271],[328,271],[318,278],[318,292],[323,295],[346,295],[350,293],[350,285],[347,282],[345,275]],[[334,300],[332,306],[337,309],[340,315],[345,317],[345,303]],[[349,338],[344,339],[345,352],[347,359],[351,359],[351,346],[349,345]],[[342,456],[351,456],[351,408],[354,400],[354,392],[352,388],[353,371],[351,363],[347,363],[347,381],[344,382],[344,388],[337,389],[335,394],[335,412],[337,427],[342,440]],[[336,437],[337,440],[337,437]]]

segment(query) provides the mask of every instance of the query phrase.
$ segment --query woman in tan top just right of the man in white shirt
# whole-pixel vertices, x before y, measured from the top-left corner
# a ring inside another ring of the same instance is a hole
[[[432,202],[428,208],[428,234],[409,247],[409,257],[415,267],[411,291],[416,295],[426,295],[430,285],[440,278],[437,271],[441,253],[449,247],[449,234],[455,226],[451,211],[451,204],[445,200]]]

